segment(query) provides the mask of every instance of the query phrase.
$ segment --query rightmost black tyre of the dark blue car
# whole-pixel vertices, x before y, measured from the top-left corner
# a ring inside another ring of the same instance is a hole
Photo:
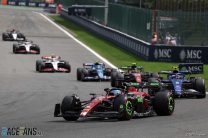
[[[194,89],[200,92],[199,95],[196,95],[196,98],[205,98],[206,97],[206,90],[205,90],[205,83],[204,79],[196,78],[194,83]]]

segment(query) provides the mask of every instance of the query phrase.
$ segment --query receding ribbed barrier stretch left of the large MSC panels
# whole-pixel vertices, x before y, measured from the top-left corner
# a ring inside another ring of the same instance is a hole
[[[69,16],[68,11],[65,9],[62,9],[61,16],[83,26],[90,32],[104,37],[105,39],[117,44],[120,48],[130,51],[138,57],[141,57],[145,60],[148,60],[149,58],[149,43],[128,36],[94,21],[77,16]]]

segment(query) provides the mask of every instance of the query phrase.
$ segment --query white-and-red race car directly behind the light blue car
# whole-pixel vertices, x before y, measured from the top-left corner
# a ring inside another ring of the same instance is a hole
[[[60,56],[42,56],[36,60],[36,71],[38,72],[71,72],[69,62],[62,60]]]

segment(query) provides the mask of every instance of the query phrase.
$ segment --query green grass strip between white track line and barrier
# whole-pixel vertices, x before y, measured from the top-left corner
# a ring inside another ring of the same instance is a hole
[[[118,48],[113,43],[103,40],[102,38],[88,32],[86,29],[70,22],[60,16],[51,15],[50,18],[56,23],[64,26],[69,29],[73,35],[84,42],[91,49],[99,53],[101,56],[105,57],[111,63],[116,66],[125,66],[130,65],[131,63],[137,63],[137,65],[141,65],[144,67],[145,71],[151,72],[159,72],[161,70],[169,70],[172,69],[172,66],[176,66],[176,63],[167,63],[167,62],[148,62],[143,59],[140,59],[134,56],[131,53],[128,53],[120,48]],[[90,61],[89,61],[90,62]],[[199,76],[205,78],[206,86],[208,86],[208,73],[206,70],[208,69],[208,65],[204,65],[204,74]]]

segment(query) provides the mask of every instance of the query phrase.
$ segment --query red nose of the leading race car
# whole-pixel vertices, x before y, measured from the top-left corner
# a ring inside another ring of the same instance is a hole
[[[99,96],[92,100],[81,112],[80,116],[85,117],[96,105],[105,101],[107,99],[113,98],[115,96]]]

